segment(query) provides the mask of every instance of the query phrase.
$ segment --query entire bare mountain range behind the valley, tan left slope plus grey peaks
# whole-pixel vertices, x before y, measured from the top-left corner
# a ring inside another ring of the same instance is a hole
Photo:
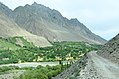
[[[57,10],[36,2],[13,11],[0,3],[0,28],[0,37],[23,36],[37,46],[50,46],[49,41],[106,42],[76,18],[68,20]]]

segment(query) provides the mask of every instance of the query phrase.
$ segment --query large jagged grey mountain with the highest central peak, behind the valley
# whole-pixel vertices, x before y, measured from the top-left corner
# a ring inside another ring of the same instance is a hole
[[[17,7],[9,16],[21,28],[32,34],[43,36],[49,41],[85,41],[96,44],[106,42],[77,19],[68,20],[57,10],[36,2],[32,5]]]

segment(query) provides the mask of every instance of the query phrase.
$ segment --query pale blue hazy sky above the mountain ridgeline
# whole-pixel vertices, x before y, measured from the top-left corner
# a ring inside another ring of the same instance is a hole
[[[0,0],[11,9],[37,2],[77,18],[93,33],[109,40],[119,33],[119,0]]]

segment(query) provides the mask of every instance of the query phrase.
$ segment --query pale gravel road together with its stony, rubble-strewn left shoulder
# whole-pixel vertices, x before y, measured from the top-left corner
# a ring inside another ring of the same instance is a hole
[[[119,66],[96,54],[88,53],[88,63],[78,79],[119,79]]]

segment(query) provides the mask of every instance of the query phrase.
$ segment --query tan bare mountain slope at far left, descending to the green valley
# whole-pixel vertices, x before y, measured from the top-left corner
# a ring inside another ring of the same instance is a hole
[[[0,3],[0,37],[23,36],[27,41],[33,42],[36,46],[51,46],[46,38],[29,33],[20,28],[14,20],[8,17],[12,11]]]

